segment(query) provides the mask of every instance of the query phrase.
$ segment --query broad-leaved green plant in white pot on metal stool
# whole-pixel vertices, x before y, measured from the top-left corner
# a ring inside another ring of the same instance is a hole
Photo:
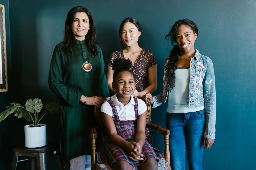
[[[10,103],[5,107],[6,110],[0,113],[0,122],[7,116],[15,113],[18,118],[26,118],[33,124],[24,127],[25,147],[36,148],[47,145],[46,124],[40,124],[40,120],[48,113],[59,114],[59,102],[42,103],[38,98],[29,99],[23,107],[19,103]]]

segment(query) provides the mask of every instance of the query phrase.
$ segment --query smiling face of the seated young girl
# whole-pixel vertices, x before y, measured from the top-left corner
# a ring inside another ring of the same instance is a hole
[[[112,88],[113,90],[116,90],[119,101],[120,99],[130,98],[135,90],[135,81],[133,75],[128,71],[119,73],[112,83]]]

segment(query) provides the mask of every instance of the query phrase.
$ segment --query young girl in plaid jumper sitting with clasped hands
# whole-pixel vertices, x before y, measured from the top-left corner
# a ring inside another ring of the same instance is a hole
[[[114,61],[112,88],[116,94],[101,106],[107,135],[103,147],[97,152],[97,159],[115,170],[132,170],[133,166],[157,170],[157,161],[164,154],[145,140],[147,106],[132,96],[135,81],[131,67],[129,59]]]

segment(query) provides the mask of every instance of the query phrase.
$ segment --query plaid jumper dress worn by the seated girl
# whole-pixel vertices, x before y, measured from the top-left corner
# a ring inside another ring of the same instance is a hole
[[[135,120],[120,121],[114,102],[111,99],[107,102],[109,102],[110,106],[112,107],[113,118],[117,134],[121,136],[124,140],[128,142],[133,142],[136,134],[136,123],[139,111],[137,98],[134,98]],[[110,140],[109,135],[107,134],[105,136],[105,143],[97,151],[97,160],[98,163],[102,163],[109,166],[120,160],[127,161],[132,166],[140,166],[147,158],[154,157],[158,162],[158,160],[164,157],[164,154],[159,150],[151,147],[147,140],[145,140],[145,144],[143,145],[141,153],[143,154],[143,160],[132,161],[128,157],[129,154],[127,153],[127,151],[113,144]]]

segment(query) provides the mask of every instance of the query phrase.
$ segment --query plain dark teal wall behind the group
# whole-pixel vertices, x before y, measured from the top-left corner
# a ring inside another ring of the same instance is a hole
[[[256,169],[255,0],[9,0],[12,54],[9,82],[12,83],[8,93],[0,93],[1,100],[9,98],[23,104],[35,97],[43,101],[57,100],[48,88],[49,65],[55,45],[63,39],[67,12],[77,5],[87,7],[94,15],[97,43],[102,47],[106,65],[110,54],[121,50],[118,40],[121,21],[126,17],[140,21],[143,32],[139,42],[144,49],[153,51],[158,61],[155,95],[162,91],[163,65],[172,49],[164,36],[179,19],[195,21],[199,28],[195,48],[213,61],[217,95],[216,140],[210,149],[204,149],[203,167],[207,170]],[[4,110],[4,105],[0,106],[0,110]],[[153,109],[153,123],[165,127],[165,111],[166,105]],[[1,149],[3,141],[13,138],[4,149],[6,153],[24,142],[23,126],[27,122],[13,117],[0,123]],[[13,123],[11,127],[8,122]],[[58,140],[59,120],[48,115],[42,122],[47,123],[48,139]],[[2,130],[7,128],[10,130]],[[8,131],[13,137],[6,134]],[[154,146],[164,150],[163,137],[156,132]],[[51,159],[51,169],[57,169],[56,161]],[[9,162],[9,157],[5,163],[0,162],[0,169],[9,169],[6,168]],[[18,167],[26,164],[18,163]]]

